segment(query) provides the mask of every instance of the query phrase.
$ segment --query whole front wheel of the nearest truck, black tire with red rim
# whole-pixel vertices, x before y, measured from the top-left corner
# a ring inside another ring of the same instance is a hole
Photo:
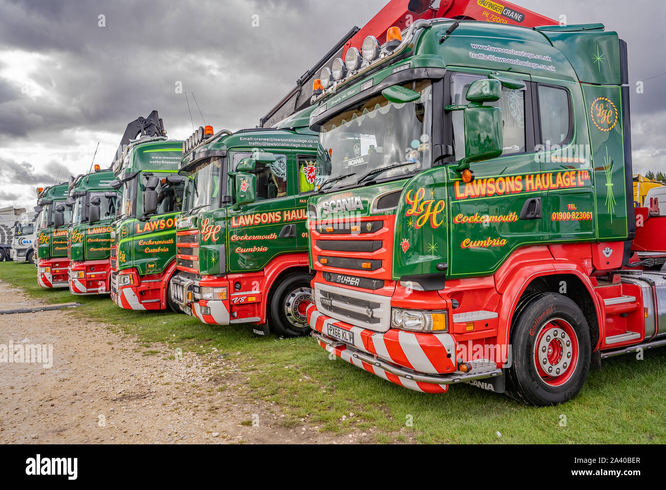
[[[512,363],[506,369],[511,398],[527,405],[556,405],[585,384],[591,359],[587,320],[571,299],[557,293],[531,297],[511,325]]]

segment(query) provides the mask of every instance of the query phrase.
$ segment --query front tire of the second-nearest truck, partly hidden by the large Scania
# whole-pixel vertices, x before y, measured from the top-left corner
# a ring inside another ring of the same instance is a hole
[[[310,333],[305,309],[312,303],[312,275],[296,273],[274,285],[268,313],[271,329],[281,337],[300,337]]]

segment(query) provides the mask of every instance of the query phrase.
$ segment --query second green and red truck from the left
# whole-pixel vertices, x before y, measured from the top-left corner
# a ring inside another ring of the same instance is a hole
[[[79,295],[111,292],[109,257],[111,221],[119,205],[119,191],[111,188],[113,171],[79,175],[69,185],[66,205],[72,219],[68,230],[69,291]]]

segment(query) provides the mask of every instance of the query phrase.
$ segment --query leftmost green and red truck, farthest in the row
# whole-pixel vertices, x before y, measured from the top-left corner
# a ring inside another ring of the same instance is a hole
[[[71,211],[65,206],[68,182],[37,189],[37,282],[47,289],[67,287],[67,225]],[[63,213],[63,224],[55,225],[55,215]]]

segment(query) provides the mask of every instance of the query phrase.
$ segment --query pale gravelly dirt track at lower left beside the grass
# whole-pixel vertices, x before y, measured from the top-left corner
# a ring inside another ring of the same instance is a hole
[[[38,304],[0,282],[0,310]],[[0,362],[0,443],[358,441],[278,425],[277,405],[242,396],[235,359],[170,360],[161,344],[144,355],[135,337],[62,310],[0,315],[0,345],[10,341],[52,344],[53,367]]]

